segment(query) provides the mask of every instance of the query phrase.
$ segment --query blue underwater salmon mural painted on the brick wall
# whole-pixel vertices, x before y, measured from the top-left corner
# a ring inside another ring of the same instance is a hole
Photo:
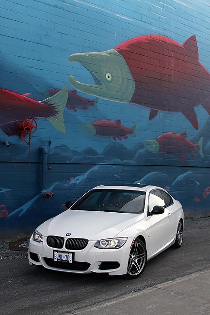
[[[0,237],[32,231],[100,184],[161,186],[186,215],[209,215],[206,4],[17,0],[9,11],[9,2],[0,5]]]

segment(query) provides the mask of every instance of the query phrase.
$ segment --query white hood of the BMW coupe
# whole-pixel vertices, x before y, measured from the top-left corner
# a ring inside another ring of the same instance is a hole
[[[144,214],[66,210],[41,224],[37,230],[43,236],[65,237],[66,233],[71,233],[71,237],[98,240],[114,237],[143,218]]]

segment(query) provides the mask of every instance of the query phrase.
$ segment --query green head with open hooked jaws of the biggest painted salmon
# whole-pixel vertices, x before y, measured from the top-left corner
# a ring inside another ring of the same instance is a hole
[[[115,50],[77,53],[70,55],[70,63],[79,62],[92,76],[94,84],[82,83],[69,77],[70,84],[77,90],[100,98],[129,103],[135,83],[125,59]]]

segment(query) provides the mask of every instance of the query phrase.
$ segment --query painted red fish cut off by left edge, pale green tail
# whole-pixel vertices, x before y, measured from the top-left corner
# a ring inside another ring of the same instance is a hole
[[[0,129],[7,136],[18,135],[16,131],[17,122],[32,117],[47,118],[52,126],[65,133],[63,113],[67,97],[67,86],[41,102],[0,89]]]

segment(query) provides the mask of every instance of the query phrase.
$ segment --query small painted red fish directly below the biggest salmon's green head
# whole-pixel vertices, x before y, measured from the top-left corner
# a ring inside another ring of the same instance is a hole
[[[84,131],[101,136],[101,137],[112,137],[114,141],[116,139],[122,140],[128,139],[128,135],[136,137],[136,124],[132,128],[127,128],[121,125],[120,119],[115,122],[111,120],[98,120],[92,125],[83,125]]]

